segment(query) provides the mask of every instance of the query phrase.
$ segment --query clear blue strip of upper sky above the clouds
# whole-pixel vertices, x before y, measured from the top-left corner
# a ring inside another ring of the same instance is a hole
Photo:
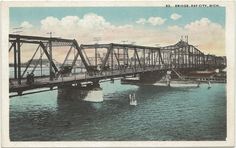
[[[212,22],[225,26],[225,8],[166,8],[166,7],[13,7],[10,8],[11,27],[19,26],[23,21],[28,21],[34,26],[40,25],[40,20],[54,16],[59,19],[65,16],[83,17],[87,13],[96,13],[115,25],[135,24],[139,18],[158,16],[166,18],[165,25],[184,26],[203,17]],[[172,13],[182,15],[176,21],[170,19]]]

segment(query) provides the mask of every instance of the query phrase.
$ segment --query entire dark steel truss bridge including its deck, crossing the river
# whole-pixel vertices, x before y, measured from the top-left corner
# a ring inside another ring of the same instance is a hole
[[[24,63],[22,45],[36,45],[34,54]],[[100,80],[175,70],[223,69],[226,58],[204,54],[198,48],[180,40],[165,47],[148,47],[132,44],[90,44],[79,45],[75,39],[55,37],[9,35],[9,54],[13,54],[13,76],[9,79],[9,92],[22,92],[37,88],[53,88],[82,82],[98,83]],[[57,64],[54,54],[58,47],[68,48],[61,64]],[[73,52],[74,50],[74,52]],[[40,56],[36,55],[40,52]],[[88,56],[90,53],[90,56]],[[92,56],[91,56],[92,53]],[[74,54],[71,58],[71,54]],[[27,84],[27,72],[42,69],[42,57],[48,61],[48,74],[35,75],[34,83]],[[34,62],[33,62],[34,61]],[[36,61],[36,62],[35,62]],[[68,62],[69,61],[69,62]],[[80,63],[80,64],[78,64]],[[67,67],[67,72],[63,71]],[[81,72],[73,72],[80,67]]]

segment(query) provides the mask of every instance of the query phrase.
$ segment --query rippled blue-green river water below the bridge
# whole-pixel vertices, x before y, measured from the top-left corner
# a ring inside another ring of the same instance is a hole
[[[12,141],[225,140],[226,85],[199,88],[101,83],[104,101],[57,99],[57,90],[10,98]],[[136,94],[137,106],[128,95]]]

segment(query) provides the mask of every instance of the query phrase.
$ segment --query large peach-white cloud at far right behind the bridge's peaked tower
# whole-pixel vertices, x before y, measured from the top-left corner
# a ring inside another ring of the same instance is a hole
[[[225,55],[225,29],[208,18],[201,18],[185,26],[168,26],[167,33],[177,38],[188,35],[190,44],[198,45],[205,53]]]

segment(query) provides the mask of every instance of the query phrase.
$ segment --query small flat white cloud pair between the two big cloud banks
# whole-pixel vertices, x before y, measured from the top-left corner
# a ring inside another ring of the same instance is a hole
[[[166,19],[164,18],[161,18],[161,17],[149,17],[147,20],[145,18],[139,18],[136,23],[137,24],[150,24],[150,25],[153,25],[153,26],[156,26],[156,25],[162,25],[164,24],[166,21]]]

